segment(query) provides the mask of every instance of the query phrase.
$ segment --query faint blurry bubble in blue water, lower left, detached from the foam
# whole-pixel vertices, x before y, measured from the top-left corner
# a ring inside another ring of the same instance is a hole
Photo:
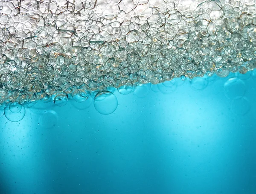
[[[43,128],[54,128],[57,123],[58,115],[53,110],[44,111],[39,118],[39,124]]]

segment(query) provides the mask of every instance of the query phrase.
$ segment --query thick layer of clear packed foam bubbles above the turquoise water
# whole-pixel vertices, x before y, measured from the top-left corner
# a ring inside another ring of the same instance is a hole
[[[0,103],[244,74],[256,67],[255,2],[0,0]]]

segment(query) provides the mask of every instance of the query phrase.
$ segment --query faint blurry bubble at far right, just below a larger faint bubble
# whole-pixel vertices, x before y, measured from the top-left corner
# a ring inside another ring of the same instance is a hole
[[[234,99],[232,101],[232,110],[237,115],[245,115],[250,111],[250,102],[246,97]]]

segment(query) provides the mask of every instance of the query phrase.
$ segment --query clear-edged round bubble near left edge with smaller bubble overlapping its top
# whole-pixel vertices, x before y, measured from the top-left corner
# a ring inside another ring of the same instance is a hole
[[[24,106],[21,106],[20,111],[15,112],[19,108],[17,109],[17,108],[15,108],[15,106],[13,106],[11,104],[12,103],[6,104],[6,106],[4,108],[4,115],[6,116],[6,118],[12,122],[18,122],[18,121],[22,120],[26,114],[26,110],[25,110]],[[11,105],[11,107],[10,107],[10,105]]]

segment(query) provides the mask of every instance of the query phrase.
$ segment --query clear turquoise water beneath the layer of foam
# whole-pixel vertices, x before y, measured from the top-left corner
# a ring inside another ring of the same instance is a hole
[[[7,112],[0,193],[255,194],[255,80],[174,79],[96,103],[39,101],[17,122]]]

